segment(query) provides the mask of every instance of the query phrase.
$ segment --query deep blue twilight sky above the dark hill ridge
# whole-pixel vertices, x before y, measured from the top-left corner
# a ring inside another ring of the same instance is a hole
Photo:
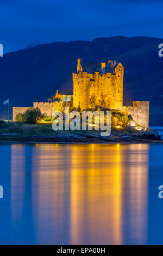
[[[115,35],[163,38],[162,0],[0,0],[4,52]]]

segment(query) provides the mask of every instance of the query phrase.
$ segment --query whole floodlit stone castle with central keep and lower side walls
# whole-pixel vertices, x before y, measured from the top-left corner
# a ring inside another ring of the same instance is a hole
[[[149,101],[133,101],[132,106],[123,106],[124,68],[115,60],[106,63],[83,63],[78,59],[77,72],[72,74],[73,96],[57,93],[48,98],[48,102],[34,102],[46,115],[52,115],[58,102],[66,102],[81,110],[90,109],[92,105],[102,108],[117,109],[131,115],[137,124],[149,126]],[[18,113],[28,108],[13,107],[13,121]]]

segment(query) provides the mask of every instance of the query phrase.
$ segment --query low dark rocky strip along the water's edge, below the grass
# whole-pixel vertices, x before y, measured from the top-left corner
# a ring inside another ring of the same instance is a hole
[[[93,132],[92,132],[93,133]],[[0,134],[0,142],[41,142],[41,143],[160,143],[163,144],[156,130],[148,129],[139,133],[113,132],[109,137],[96,134],[73,132],[61,135],[20,136],[11,133]]]

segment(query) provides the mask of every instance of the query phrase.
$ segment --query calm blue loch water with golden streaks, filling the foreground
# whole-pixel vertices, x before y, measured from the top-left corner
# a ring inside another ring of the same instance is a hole
[[[163,145],[1,144],[1,245],[163,244]]]

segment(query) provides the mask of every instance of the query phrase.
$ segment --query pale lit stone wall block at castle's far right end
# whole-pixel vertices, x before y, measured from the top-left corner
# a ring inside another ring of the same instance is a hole
[[[149,127],[149,101],[133,101],[133,106],[122,107],[140,126]]]

